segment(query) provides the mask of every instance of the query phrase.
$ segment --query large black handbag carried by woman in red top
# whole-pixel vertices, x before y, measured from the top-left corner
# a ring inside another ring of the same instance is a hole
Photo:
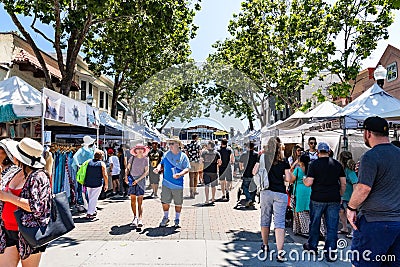
[[[46,245],[75,228],[65,191],[52,197],[50,221],[45,226],[24,226],[21,221],[22,210],[18,209],[14,214],[19,232],[32,248]]]

